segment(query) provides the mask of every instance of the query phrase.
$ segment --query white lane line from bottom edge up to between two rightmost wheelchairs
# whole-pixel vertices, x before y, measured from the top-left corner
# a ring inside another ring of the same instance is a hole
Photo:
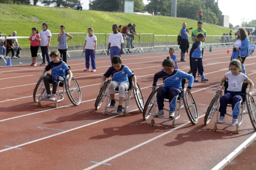
[[[205,115],[199,116],[198,119],[202,118],[203,116],[205,116]],[[143,142],[143,143],[141,143],[139,145],[136,145],[135,147],[129,148],[128,150],[125,150],[124,152],[118,153],[117,155],[114,155],[114,156],[112,156],[112,157],[110,157],[110,158],[108,158],[108,159],[106,159],[104,161],[101,161],[100,163],[96,163],[93,166],[85,168],[84,170],[93,169],[93,168],[96,168],[97,166],[100,166],[103,163],[106,163],[108,161],[114,160],[115,158],[117,158],[119,156],[122,156],[122,155],[124,155],[124,154],[126,154],[126,153],[128,153],[128,152],[130,152],[132,150],[135,150],[136,148],[142,147],[143,145],[146,145],[146,144],[152,142],[153,140],[156,140],[156,139],[158,139],[160,137],[166,136],[167,134],[169,134],[169,133],[171,133],[173,131],[176,131],[177,129],[179,129],[179,128],[183,127],[183,126],[186,126],[189,123],[190,123],[190,121],[187,122],[187,123],[181,124],[180,126],[175,127],[174,129],[171,129],[171,130],[169,130],[167,132],[164,132],[163,134],[160,134],[159,136],[153,137],[152,139],[149,139],[149,140],[147,140],[147,141],[145,141],[145,142]]]

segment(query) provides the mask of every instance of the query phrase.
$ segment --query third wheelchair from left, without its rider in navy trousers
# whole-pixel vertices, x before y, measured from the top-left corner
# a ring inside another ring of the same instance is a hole
[[[176,105],[176,109],[174,111],[174,118],[169,118],[168,116],[161,116],[160,118],[163,119],[173,119],[173,127],[176,127],[176,119],[178,119],[181,116],[181,110],[185,108],[186,112],[187,112],[187,116],[189,117],[189,120],[192,124],[197,124],[198,121],[198,112],[197,112],[197,105],[195,104],[195,100],[192,96],[192,94],[187,94],[187,89],[185,88],[185,84],[186,84],[186,79],[182,79],[182,89],[183,89],[183,97],[179,97],[179,95],[177,95],[176,97],[174,97],[173,100],[175,100],[175,105]],[[157,96],[156,96],[156,92],[157,92],[158,87],[156,87],[150,94],[150,96],[148,97],[148,100],[145,104],[144,110],[143,110],[143,120],[147,120],[152,114],[152,119],[151,119],[151,125],[153,126],[155,124],[155,118],[159,118],[159,117],[155,117],[156,112],[158,109],[156,109],[156,107],[158,107],[157,104]],[[168,96],[164,97],[164,102],[168,102]],[[179,108],[177,108],[177,103],[179,103]],[[164,110],[169,111],[168,108],[164,107]],[[178,113],[177,113],[178,112]]]

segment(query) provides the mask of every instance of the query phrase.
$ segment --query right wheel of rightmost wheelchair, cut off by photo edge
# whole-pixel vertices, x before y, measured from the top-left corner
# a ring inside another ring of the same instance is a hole
[[[252,123],[252,126],[254,126],[254,129],[256,130],[256,106],[254,98],[246,95],[246,105],[247,110],[249,112],[250,122]]]

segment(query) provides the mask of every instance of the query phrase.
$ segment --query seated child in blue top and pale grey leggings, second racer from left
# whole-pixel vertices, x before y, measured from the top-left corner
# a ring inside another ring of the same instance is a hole
[[[112,59],[113,66],[109,67],[108,71],[103,75],[101,79],[101,85],[100,88],[104,86],[104,82],[106,78],[109,78],[109,76],[112,76],[112,81],[109,83],[109,94],[111,98],[110,106],[114,107],[116,104],[116,101],[114,100],[114,92],[117,87],[119,87],[119,105],[117,108],[117,113],[122,113],[122,103],[124,101],[125,97],[125,89],[129,87],[129,81],[128,76],[132,77],[132,81],[134,82],[134,89],[137,91],[137,81],[134,73],[130,71],[130,69],[122,65],[121,57],[118,55],[114,55]]]

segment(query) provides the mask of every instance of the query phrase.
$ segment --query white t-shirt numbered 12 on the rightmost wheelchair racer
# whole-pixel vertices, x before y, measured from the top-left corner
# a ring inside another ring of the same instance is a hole
[[[247,78],[246,75],[240,73],[239,75],[233,75],[232,72],[228,72],[225,74],[226,78],[228,78],[228,89],[227,91],[232,92],[241,92],[242,91],[242,83],[244,83],[244,79]]]

